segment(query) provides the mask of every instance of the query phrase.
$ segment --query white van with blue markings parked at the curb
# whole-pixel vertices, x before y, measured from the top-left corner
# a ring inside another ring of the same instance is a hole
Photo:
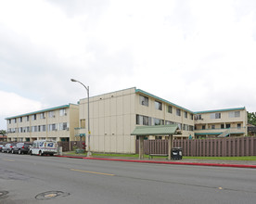
[[[51,155],[57,153],[58,144],[52,140],[35,140],[30,149],[31,155]]]

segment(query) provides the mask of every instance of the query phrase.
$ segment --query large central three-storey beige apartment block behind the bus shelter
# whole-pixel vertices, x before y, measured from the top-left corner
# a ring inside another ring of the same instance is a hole
[[[79,104],[80,129],[76,135],[88,133],[87,99],[81,99]],[[174,138],[192,138],[193,115],[191,110],[136,88],[93,96],[90,97],[90,147],[96,152],[134,153],[136,136],[131,133],[136,125],[175,123],[182,134],[173,135]]]

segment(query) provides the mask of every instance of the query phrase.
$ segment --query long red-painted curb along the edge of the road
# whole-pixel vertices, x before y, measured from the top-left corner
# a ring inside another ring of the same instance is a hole
[[[158,164],[176,164],[176,165],[193,165],[193,166],[212,166],[212,167],[235,167],[235,168],[256,169],[256,165],[246,165],[246,164],[195,163],[195,162],[174,162],[174,161],[134,160],[134,159],[106,159],[106,158],[87,158],[87,157],[60,156],[60,155],[56,155],[55,157],[72,158],[72,159],[113,160],[113,161],[139,162],[139,163],[158,163]]]

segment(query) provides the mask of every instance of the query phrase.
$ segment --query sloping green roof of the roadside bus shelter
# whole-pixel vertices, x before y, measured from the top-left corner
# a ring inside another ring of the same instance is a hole
[[[156,125],[156,126],[136,126],[131,135],[169,135],[176,134],[177,124]]]

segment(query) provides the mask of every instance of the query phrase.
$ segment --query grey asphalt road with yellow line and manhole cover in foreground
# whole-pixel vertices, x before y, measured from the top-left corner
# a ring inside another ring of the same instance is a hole
[[[0,203],[256,202],[256,170],[0,153]]]

